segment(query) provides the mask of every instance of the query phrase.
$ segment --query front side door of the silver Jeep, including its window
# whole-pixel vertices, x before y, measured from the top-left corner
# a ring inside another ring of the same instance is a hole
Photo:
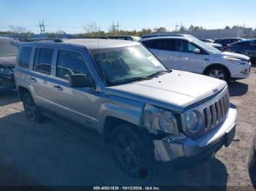
[[[52,80],[52,102],[55,112],[87,127],[98,122],[98,93],[88,87],[70,87],[69,74],[90,74],[80,51],[60,49],[57,52],[55,77]]]

